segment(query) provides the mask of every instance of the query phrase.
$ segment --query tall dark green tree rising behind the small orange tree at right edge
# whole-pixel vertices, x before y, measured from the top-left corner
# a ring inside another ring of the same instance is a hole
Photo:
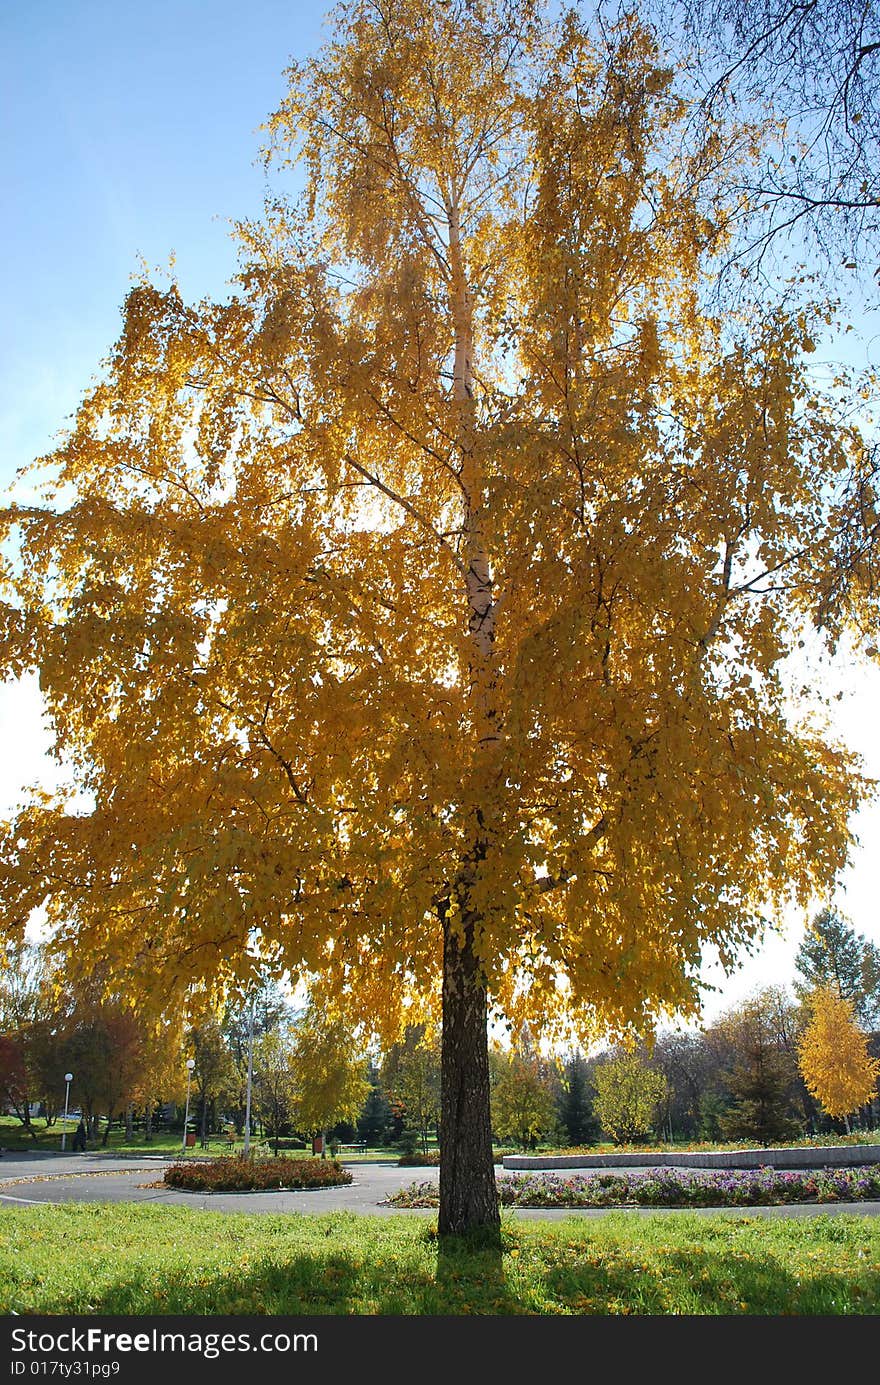
[[[852,1001],[855,1017],[868,1029],[880,1024],[880,947],[856,933],[831,906],[809,922],[794,958],[794,992],[807,1000],[819,988],[833,988]]]

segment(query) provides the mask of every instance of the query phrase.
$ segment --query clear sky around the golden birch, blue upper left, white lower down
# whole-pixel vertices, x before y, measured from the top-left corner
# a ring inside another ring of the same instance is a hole
[[[143,258],[173,253],[184,296],[234,271],[229,220],[259,212],[258,126],[291,57],[319,46],[323,3],[32,0],[0,6],[0,488],[49,450],[109,350]],[[856,350],[858,355],[858,350]],[[845,669],[838,724],[880,777],[880,677]],[[51,780],[32,680],[0,688],[0,812]],[[880,810],[840,904],[880,943]],[[804,920],[725,983],[789,982]],[[721,982],[721,976],[714,974]]]

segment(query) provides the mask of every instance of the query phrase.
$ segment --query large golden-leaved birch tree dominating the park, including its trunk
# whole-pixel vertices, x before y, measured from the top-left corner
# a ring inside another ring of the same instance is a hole
[[[4,669],[80,796],[1,895],[157,1003],[256,939],[385,1042],[439,1008],[439,1226],[493,1230],[489,1014],[693,1014],[704,945],[844,863],[859,783],[779,670],[861,440],[808,313],[703,306],[757,136],[637,22],[353,0],[288,78],[302,195],[229,302],[130,292],[6,515]]]

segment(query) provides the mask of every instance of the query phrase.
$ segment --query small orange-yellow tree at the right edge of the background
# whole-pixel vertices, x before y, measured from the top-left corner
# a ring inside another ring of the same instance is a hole
[[[800,1044],[804,1082],[830,1116],[844,1120],[848,1133],[850,1115],[876,1091],[880,1061],[868,1053],[851,1000],[820,986],[811,997],[811,1011]]]

